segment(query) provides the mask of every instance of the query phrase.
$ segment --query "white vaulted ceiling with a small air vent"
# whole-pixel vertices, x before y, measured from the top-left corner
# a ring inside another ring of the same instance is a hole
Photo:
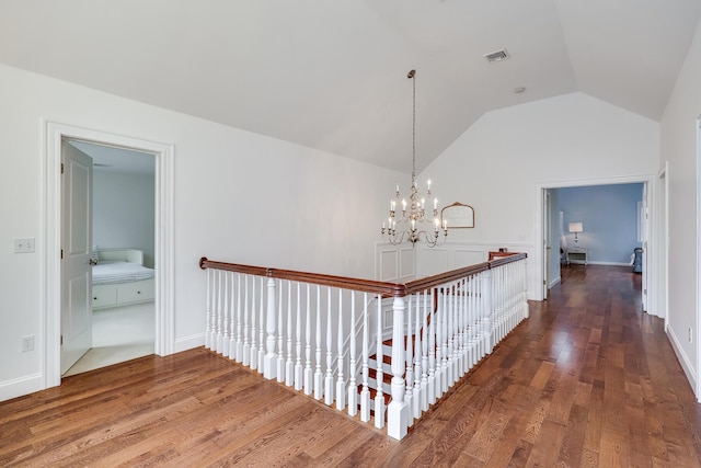
[[[0,62],[410,171],[410,69],[421,170],[485,112],[574,91],[659,121],[700,16],[699,0],[0,0]]]

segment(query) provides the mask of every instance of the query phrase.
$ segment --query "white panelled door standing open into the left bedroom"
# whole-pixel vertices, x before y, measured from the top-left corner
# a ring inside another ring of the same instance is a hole
[[[92,347],[92,158],[61,142],[61,375]]]

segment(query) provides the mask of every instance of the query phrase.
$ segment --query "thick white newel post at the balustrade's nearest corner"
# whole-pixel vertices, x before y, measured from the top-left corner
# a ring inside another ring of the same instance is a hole
[[[387,435],[401,441],[406,435],[409,407],[404,402],[404,311],[403,297],[395,297],[392,305],[392,401],[387,408]]]

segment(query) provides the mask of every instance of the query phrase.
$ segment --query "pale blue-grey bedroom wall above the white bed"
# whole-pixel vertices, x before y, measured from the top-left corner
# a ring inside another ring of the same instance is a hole
[[[141,250],[143,264],[152,267],[154,191],[153,175],[107,172],[95,168],[92,197],[93,246],[100,249],[125,247]]]

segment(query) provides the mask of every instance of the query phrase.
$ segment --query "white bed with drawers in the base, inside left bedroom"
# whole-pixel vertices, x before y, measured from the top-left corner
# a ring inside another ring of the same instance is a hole
[[[154,271],[143,266],[143,252],[104,249],[93,254],[92,308],[104,309],[153,300]]]

